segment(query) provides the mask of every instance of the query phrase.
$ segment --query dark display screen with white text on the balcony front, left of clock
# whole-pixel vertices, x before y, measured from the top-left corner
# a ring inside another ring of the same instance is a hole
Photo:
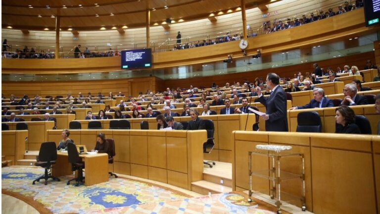
[[[150,67],[152,67],[151,49],[121,51],[121,68],[136,69]]]

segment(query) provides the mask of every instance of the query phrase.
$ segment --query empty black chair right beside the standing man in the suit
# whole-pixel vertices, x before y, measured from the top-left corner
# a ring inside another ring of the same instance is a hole
[[[317,111],[303,111],[297,115],[296,132],[322,132],[321,117]]]

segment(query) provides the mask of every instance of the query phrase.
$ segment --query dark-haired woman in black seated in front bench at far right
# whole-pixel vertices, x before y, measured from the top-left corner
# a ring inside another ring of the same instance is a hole
[[[335,133],[360,134],[359,126],[355,124],[355,112],[350,107],[341,106],[336,108]]]

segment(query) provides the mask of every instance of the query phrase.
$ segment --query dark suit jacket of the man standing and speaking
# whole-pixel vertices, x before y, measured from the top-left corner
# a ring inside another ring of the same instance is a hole
[[[286,117],[286,95],[281,86],[278,86],[269,98],[261,96],[257,99],[257,101],[267,108],[266,114],[269,115],[269,119],[265,121],[266,131],[288,130]]]

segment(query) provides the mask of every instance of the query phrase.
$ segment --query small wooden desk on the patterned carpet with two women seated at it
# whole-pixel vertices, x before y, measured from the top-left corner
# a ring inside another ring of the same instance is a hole
[[[99,153],[96,155],[79,155],[85,162],[85,185],[91,186],[98,183],[108,181],[108,155]],[[60,177],[63,175],[70,175],[71,163],[68,160],[68,154],[65,152],[57,152],[57,160],[52,167],[52,175]],[[75,172],[77,177],[78,171]]]

